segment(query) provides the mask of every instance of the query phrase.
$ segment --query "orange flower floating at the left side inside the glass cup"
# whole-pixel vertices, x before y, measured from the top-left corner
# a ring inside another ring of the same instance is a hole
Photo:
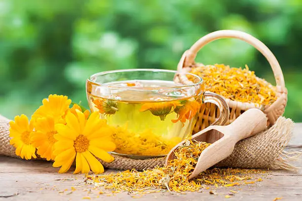
[[[117,102],[113,100],[102,100],[102,99],[95,99],[93,100],[95,107],[99,109],[101,114],[105,115],[112,115],[118,111]]]

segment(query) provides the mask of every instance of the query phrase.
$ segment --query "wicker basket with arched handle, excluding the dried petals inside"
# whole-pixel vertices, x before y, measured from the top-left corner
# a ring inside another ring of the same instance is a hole
[[[189,50],[185,51],[178,64],[178,71],[189,72],[191,70],[190,68],[197,67],[198,64],[194,62],[197,52],[207,43],[217,40],[219,38],[238,38],[240,40],[246,41],[247,43],[253,45],[256,49],[258,49],[270,64],[277,85],[276,88],[278,98],[271,105],[259,105],[257,103],[239,102],[226,99],[230,111],[229,121],[227,124],[233,122],[244,111],[250,108],[258,108],[264,111],[264,113],[266,114],[267,125],[273,125],[276,122],[277,118],[284,113],[284,109],[287,103],[287,89],[285,88],[283,73],[277,59],[272,54],[272,52],[264,45],[264,43],[262,43],[260,40],[253,37],[252,35],[233,30],[221,30],[209,33],[201,37],[191,46]],[[193,133],[196,133],[211,125],[213,122],[215,122],[219,115],[219,110],[215,104],[203,104],[200,108],[200,112]]]

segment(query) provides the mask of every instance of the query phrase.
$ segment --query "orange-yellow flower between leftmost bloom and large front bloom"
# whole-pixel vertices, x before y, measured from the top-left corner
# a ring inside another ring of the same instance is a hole
[[[35,131],[31,136],[31,142],[37,147],[38,155],[46,158],[47,161],[50,159],[54,160],[54,143],[57,141],[54,138],[54,134],[57,134],[54,118],[51,116],[38,118],[36,120]]]

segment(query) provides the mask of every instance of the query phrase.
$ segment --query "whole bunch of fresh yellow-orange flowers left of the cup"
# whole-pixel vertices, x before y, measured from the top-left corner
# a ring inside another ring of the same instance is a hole
[[[54,160],[59,172],[66,172],[76,160],[74,173],[104,172],[96,157],[112,162],[108,151],[115,149],[112,142],[113,128],[98,112],[82,111],[77,104],[71,105],[66,96],[49,95],[29,121],[24,114],[16,116],[10,124],[10,144],[22,159],[37,158]]]

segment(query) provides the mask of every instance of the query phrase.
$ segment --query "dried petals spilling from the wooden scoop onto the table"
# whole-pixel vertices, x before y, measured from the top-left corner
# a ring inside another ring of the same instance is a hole
[[[200,153],[209,145],[205,142],[187,140],[183,146],[175,151],[176,159],[171,160],[165,167],[155,167],[142,172],[132,169],[119,173],[86,175],[86,178],[88,181],[92,181],[96,187],[103,186],[114,193],[127,191],[131,193],[141,192],[142,194],[159,192],[160,189],[178,193],[194,192],[201,188],[207,188],[209,185],[230,187],[261,181],[261,178],[247,175],[262,173],[262,170],[232,168],[208,169],[198,177],[189,180]]]

